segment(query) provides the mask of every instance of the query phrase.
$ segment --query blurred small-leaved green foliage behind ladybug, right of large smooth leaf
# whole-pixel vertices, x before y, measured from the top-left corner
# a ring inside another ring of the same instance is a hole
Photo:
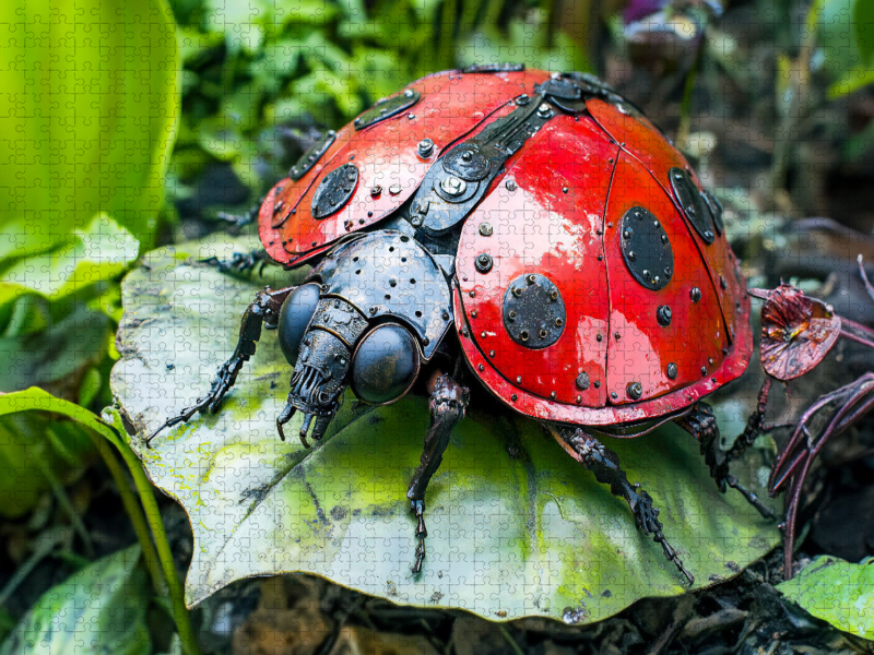
[[[258,195],[299,155],[283,134],[336,128],[437,70],[495,60],[584,68],[580,44],[551,34],[545,7],[376,0],[367,10],[359,0],[176,0],[184,118],[170,193],[193,195],[204,166],[225,162]]]

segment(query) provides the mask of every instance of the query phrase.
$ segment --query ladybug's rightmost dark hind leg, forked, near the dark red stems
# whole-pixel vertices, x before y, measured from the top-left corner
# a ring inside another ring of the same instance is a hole
[[[700,442],[704,461],[710,467],[710,476],[716,481],[719,490],[724,493],[729,487],[736,489],[765,519],[773,519],[773,512],[761,504],[758,496],[741,485],[737,478],[731,475],[729,462],[741,456],[747,446],[755,441],[758,431],[761,430],[761,422],[765,418],[764,404],[767,404],[769,388],[769,383],[763,385],[764,400],[763,393],[759,393],[759,408],[751,416],[746,429],[737,438],[742,442],[737,443],[737,440],[735,440],[734,446],[729,452],[719,446],[719,426],[717,425],[716,416],[713,416],[713,409],[706,403],[696,403],[692,412],[676,420],[680,427]]]

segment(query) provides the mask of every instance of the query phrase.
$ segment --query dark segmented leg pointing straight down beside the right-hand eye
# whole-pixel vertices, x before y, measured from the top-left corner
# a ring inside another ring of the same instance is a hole
[[[436,372],[428,382],[430,393],[430,427],[425,434],[425,446],[422,460],[410,481],[406,498],[410,500],[410,511],[416,516],[416,561],[413,573],[422,571],[425,559],[425,537],[428,529],[425,527],[425,490],[430,478],[440,466],[446,446],[449,445],[449,433],[452,428],[464,418],[468,407],[470,391],[456,382],[450,376]]]

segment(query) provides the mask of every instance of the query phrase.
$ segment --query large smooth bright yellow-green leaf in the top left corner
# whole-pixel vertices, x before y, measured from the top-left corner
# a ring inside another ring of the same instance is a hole
[[[152,242],[179,105],[163,0],[5,0],[0,44],[0,259],[101,211]]]

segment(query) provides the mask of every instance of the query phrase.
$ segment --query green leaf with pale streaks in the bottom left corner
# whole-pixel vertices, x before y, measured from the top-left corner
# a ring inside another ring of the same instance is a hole
[[[0,655],[146,655],[149,581],[140,547],[105,557],[51,587],[15,627]]]

